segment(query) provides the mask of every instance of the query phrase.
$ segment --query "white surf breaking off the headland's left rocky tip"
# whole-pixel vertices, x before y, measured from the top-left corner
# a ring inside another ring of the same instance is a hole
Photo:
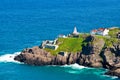
[[[0,62],[14,62],[19,63],[18,61],[15,61],[15,56],[19,55],[20,52],[15,52],[14,54],[5,54],[0,56]]]

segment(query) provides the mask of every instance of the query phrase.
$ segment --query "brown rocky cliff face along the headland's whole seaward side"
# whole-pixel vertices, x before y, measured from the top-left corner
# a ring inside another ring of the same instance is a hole
[[[105,47],[103,38],[88,36],[82,45],[82,51],[67,53],[66,55],[52,55],[51,53],[33,47],[25,49],[14,59],[30,65],[65,65],[78,63],[88,67],[103,67],[110,71],[106,74],[120,75],[120,43],[113,43],[111,47]],[[120,76],[119,76],[120,77]]]

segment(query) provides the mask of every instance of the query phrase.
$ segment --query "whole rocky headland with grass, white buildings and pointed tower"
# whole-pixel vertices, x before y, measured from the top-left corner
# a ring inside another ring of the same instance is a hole
[[[105,74],[120,77],[120,28],[99,28],[90,33],[59,35],[40,46],[24,49],[14,58],[29,65],[74,64],[109,69]]]

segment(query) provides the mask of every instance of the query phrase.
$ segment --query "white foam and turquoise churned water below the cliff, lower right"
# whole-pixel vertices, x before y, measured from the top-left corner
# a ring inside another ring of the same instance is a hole
[[[115,80],[116,78],[118,78],[116,76],[104,75],[104,73],[106,72],[105,69],[84,67],[77,63],[71,64],[71,65],[64,65],[62,67],[65,68],[65,72],[70,73],[70,74],[83,74],[83,75],[93,74],[93,75],[99,76],[101,78],[110,78],[112,80]],[[84,73],[84,72],[87,72],[87,73]]]

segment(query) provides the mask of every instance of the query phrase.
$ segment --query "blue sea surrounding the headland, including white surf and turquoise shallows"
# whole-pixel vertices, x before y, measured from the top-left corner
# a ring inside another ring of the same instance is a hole
[[[78,64],[30,66],[13,60],[24,48],[39,46],[74,26],[89,33],[120,26],[120,0],[0,0],[0,80],[120,80],[105,69]]]

